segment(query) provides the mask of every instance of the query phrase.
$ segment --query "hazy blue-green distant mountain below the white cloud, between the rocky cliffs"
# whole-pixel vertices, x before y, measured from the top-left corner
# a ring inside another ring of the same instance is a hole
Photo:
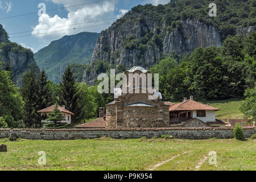
[[[46,70],[49,80],[59,83],[68,65],[89,63],[99,36],[92,32],[66,35],[36,52],[35,61],[40,69]]]

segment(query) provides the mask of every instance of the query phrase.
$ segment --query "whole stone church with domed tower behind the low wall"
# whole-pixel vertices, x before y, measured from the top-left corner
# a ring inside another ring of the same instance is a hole
[[[123,83],[126,91],[122,90],[106,105],[107,129],[170,127],[170,105],[164,104],[162,95],[151,85],[151,89],[145,87],[148,76],[151,78],[149,73],[142,67],[133,67],[123,73],[127,78]]]

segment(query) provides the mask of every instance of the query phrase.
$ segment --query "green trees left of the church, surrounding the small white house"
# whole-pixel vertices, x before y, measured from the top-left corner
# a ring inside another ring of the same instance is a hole
[[[44,69],[36,74],[33,66],[23,76],[22,86],[16,87],[11,72],[0,68],[0,127],[40,128],[37,111],[51,105],[65,105],[72,111],[72,125],[98,116],[98,107],[105,106],[104,97],[96,86],[75,82],[73,73],[65,69],[60,84],[47,79]]]

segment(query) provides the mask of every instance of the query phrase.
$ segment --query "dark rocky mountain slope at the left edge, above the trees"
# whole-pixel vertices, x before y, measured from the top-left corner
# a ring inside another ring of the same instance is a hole
[[[31,49],[24,48],[16,43],[10,42],[7,32],[0,24],[0,56],[2,68],[9,67],[11,75],[16,86],[22,84],[22,78],[25,72],[33,66],[36,73],[40,70],[36,65],[34,54]]]

